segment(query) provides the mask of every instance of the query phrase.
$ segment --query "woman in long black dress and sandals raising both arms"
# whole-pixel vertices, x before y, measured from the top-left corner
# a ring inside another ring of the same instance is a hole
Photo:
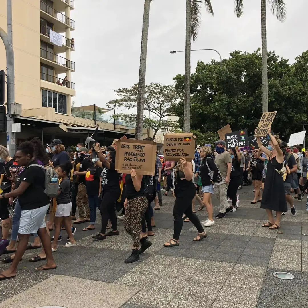
[[[281,212],[286,212],[288,207],[283,184],[283,174],[282,172],[278,173],[278,171],[282,171],[283,169],[283,153],[280,148],[282,141],[278,136],[271,134],[271,129],[271,127],[268,128],[268,134],[271,138],[268,147],[265,148],[261,144],[259,137],[257,137],[257,143],[259,148],[266,154],[268,160],[261,209],[266,210],[269,221],[263,224],[262,227],[275,230],[280,228]],[[274,220],[272,211],[276,211],[276,221]]]

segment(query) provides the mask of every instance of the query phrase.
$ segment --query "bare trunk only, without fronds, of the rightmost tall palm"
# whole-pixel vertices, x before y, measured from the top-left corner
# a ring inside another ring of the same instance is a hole
[[[267,47],[266,47],[266,0],[261,0],[261,43],[262,43],[262,111],[269,111],[267,86]]]

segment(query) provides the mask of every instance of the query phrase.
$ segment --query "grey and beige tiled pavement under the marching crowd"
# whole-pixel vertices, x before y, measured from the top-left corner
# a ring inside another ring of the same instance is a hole
[[[281,229],[274,231],[261,228],[266,214],[259,204],[250,204],[252,187],[239,194],[237,212],[215,220],[205,240],[193,242],[197,231],[190,222],[183,223],[180,246],[172,248],[162,246],[173,233],[173,198],[164,197],[166,204],[155,212],[153,244],[133,264],[124,263],[131,238],[123,222],[120,235],[104,241],[93,241],[94,232],[82,232],[79,225],[78,246],[54,253],[56,270],[34,272],[38,264],[27,261],[27,252],[18,277],[0,283],[0,307],[307,307],[308,236],[302,235],[302,226],[308,225],[306,198],[295,202],[297,216],[289,211]],[[215,198],[213,204],[217,213]],[[198,213],[202,220],[205,214]],[[291,272],[295,279],[274,278],[278,270]]]

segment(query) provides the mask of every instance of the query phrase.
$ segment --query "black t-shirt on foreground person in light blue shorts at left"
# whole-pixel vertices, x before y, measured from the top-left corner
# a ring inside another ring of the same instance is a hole
[[[31,167],[31,164],[38,164],[33,160],[26,166],[16,178],[18,187],[21,182],[30,183],[25,192],[18,197],[18,202],[23,211],[38,209],[50,202],[50,198],[44,193],[45,190],[45,171],[37,166]]]

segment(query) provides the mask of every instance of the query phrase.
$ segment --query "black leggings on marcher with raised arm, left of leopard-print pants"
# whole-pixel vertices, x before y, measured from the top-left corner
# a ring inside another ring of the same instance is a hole
[[[102,229],[100,233],[105,234],[106,228],[108,224],[108,219],[111,221],[112,230],[117,231],[117,220],[115,214],[115,201],[117,201],[120,197],[121,191],[120,188],[118,190],[112,191],[102,191],[102,201],[100,204],[100,213],[102,214]]]

